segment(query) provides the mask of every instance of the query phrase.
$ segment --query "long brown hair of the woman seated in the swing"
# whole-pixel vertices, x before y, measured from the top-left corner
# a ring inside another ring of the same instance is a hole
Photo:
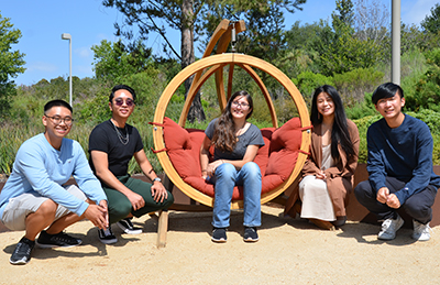
[[[231,96],[231,98],[229,98],[227,107],[216,122],[216,131],[213,132],[211,142],[216,149],[222,152],[232,152],[235,149],[235,123],[232,120],[231,106],[237,97],[244,97],[248,100],[250,112],[248,113],[246,119],[249,119],[254,111],[252,97],[246,91],[237,91]]]

